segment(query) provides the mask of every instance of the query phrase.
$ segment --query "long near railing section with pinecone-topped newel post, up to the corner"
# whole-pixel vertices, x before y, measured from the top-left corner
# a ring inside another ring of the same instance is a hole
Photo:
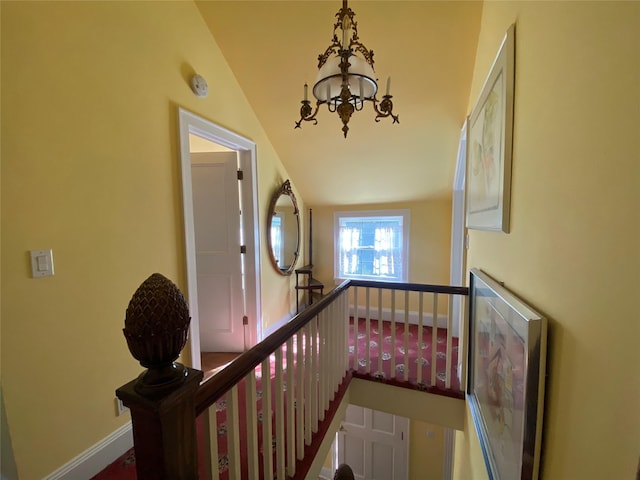
[[[128,315],[125,320],[131,353],[148,370],[116,390],[118,398],[131,411],[138,480],[191,480],[199,475],[217,479],[219,472],[226,469],[224,475],[230,480],[304,478],[350,379],[348,282],[200,383],[203,372],[174,362],[184,342],[177,352],[166,345],[144,347],[161,336],[158,320],[164,313],[171,315],[186,308],[175,285],[162,277],[170,285],[159,288],[149,282],[153,277],[140,286],[127,309],[128,314],[132,311],[138,315],[131,315],[131,319]],[[158,283],[157,278],[155,281]],[[184,305],[167,306],[172,302]],[[162,308],[154,311],[158,305]],[[176,323],[171,318],[166,320],[170,325]],[[137,325],[135,333],[127,331],[131,326],[128,324]],[[130,338],[136,335],[140,346],[132,349]],[[173,347],[174,337],[165,343]],[[140,354],[150,349],[162,352],[162,358],[150,361]],[[258,446],[257,435],[258,384],[262,391],[260,438],[265,439],[262,448]],[[216,415],[217,403],[223,397],[225,459],[219,455]],[[200,429],[208,433],[205,443],[211,452],[205,468],[202,458],[200,464],[197,458],[197,418],[201,423],[206,420]],[[271,438],[273,441],[268,441]]]

